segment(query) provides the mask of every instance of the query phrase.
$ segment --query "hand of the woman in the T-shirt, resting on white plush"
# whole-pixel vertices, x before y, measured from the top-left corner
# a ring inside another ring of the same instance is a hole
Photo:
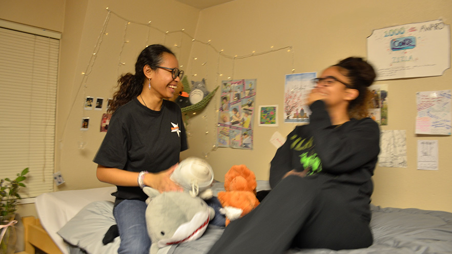
[[[182,192],[182,187],[171,181],[170,177],[176,169],[177,163],[168,170],[159,173],[148,173],[145,175],[145,185],[162,192]]]

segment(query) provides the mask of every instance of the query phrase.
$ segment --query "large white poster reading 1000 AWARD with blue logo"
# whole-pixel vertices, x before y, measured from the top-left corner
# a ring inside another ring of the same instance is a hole
[[[367,59],[377,80],[441,76],[450,68],[450,26],[438,19],[374,30]]]

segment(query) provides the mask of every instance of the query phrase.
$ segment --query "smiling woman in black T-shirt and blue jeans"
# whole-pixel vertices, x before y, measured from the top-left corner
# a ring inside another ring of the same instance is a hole
[[[143,186],[180,190],[170,180],[179,153],[188,148],[179,106],[173,96],[183,75],[175,55],[162,45],[141,51],[135,74],[118,80],[108,132],[94,158],[97,178],[117,186],[113,215],[121,244],[118,253],[149,253]]]

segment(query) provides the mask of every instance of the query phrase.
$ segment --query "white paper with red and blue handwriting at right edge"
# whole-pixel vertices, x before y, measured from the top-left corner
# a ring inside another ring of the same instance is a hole
[[[416,93],[416,134],[450,135],[450,90]]]

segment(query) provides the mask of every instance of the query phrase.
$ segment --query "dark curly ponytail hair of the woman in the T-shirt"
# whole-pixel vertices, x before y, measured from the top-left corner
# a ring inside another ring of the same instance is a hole
[[[156,70],[157,66],[163,61],[163,53],[174,55],[167,47],[159,44],[150,45],[141,51],[135,63],[135,74],[126,73],[119,77],[117,85],[119,89],[113,95],[108,113],[113,114],[121,105],[126,104],[141,93],[146,79],[143,68],[149,65],[152,70]]]

